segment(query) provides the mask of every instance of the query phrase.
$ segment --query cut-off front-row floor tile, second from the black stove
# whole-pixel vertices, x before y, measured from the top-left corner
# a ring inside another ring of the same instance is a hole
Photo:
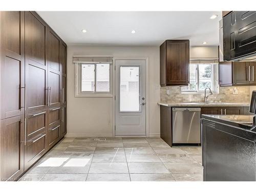
[[[175,181],[171,174],[130,174],[132,181]]]

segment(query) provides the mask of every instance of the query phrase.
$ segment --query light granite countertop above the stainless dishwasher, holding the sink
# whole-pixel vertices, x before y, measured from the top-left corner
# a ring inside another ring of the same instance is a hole
[[[186,102],[186,103],[164,103],[158,102],[163,106],[250,106],[250,103],[227,103],[227,102]]]

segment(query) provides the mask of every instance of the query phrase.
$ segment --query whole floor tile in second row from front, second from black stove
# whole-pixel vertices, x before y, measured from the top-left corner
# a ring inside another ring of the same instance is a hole
[[[130,173],[141,173],[141,174],[168,174],[169,171],[166,169],[163,163],[153,162],[130,162],[128,163]]]

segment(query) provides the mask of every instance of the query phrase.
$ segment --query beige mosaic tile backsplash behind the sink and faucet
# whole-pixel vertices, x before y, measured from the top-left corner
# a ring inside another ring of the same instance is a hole
[[[233,95],[233,88],[238,90],[237,95]],[[166,94],[166,90],[170,90],[170,94]],[[204,93],[181,93],[181,87],[161,87],[161,102],[164,103],[181,103],[181,102],[204,102]],[[250,87],[220,87],[219,93],[209,96],[208,101],[212,102],[230,102],[230,103],[249,103]]]

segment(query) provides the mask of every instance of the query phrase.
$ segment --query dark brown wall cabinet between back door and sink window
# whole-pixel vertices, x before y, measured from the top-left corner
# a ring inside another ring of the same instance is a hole
[[[160,46],[160,85],[189,83],[189,40],[166,40]]]

